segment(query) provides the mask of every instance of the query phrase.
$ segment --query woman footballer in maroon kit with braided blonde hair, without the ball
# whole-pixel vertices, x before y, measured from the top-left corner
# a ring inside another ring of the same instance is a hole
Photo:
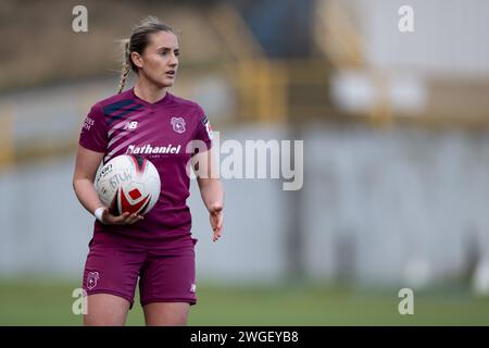
[[[137,26],[125,44],[118,94],[95,103],[83,125],[73,187],[97,217],[83,278],[85,325],[124,325],[138,278],[147,325],[187,324],[197,301],[188,163],[210,213],[213,240],[221,237],[224,189],[214,175],[209,120],[197,103],[168,91],[178,54],[172,28],[154,17]],[[123,91],[129,70],[137,83]],[[156,147],[173,150],[151,150]],[[160,198],[145,216],[115,216],[99,200],[95,175],[102,161],[133,152],[156,166]]]

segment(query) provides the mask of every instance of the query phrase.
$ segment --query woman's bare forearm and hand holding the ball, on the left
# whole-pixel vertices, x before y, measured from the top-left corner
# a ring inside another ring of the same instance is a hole
[[[97,169],[99,167],[102,158],[102,152],[91,151],[78,146],[75,173],[73,175],[73,188],[79,202],[90,214],[93,214],[96,209],[104,207],[93,186]],[[141,219],[142,216],[140,215],[129,215],[127,212],[120,216],[114,216],[109,212],[106,207],[104,207],[102,214],[102,223],[104,224],[131,224]]]

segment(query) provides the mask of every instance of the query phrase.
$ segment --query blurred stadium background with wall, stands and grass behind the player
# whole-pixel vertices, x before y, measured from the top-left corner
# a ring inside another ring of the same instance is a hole
[[[88,33],[72,30],[77,4]],[[404,4],[414,33],[398,29]],[[224,181],[218,244],[192,183],[190,324],[489,324],[489,2],[3,0],[0,325],[82,322],[93,217],[74,151],[116,91],[116,40],[150,14],[179,33],[173,91],[222,141],[304,140],[301,190]],[[398,312],[404,287],[414,315]]]

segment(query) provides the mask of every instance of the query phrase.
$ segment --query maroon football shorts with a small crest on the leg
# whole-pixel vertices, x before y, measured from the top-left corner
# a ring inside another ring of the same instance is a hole
[[[139,278],[140,303],[195,304],[197,239],[186,235],[153,244],[137,243],[116,234],[93,238],[85,264],[87,295],[111,294],[134,304]]]

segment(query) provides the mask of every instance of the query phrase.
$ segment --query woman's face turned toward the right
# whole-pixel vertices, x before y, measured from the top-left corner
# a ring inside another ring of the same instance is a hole
[[[175,83],[178,54],[178,39],[168,32],[151,34],[142,54],[133,53],[134,62],[140,69],[139,73],[161,88],[172,87]]]

